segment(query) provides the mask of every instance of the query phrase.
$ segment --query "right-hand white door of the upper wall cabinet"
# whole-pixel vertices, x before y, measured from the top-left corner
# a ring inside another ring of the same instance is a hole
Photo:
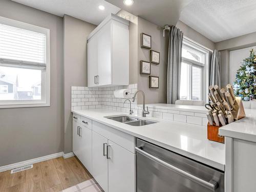
[[[98,86],[111,84],[111,21],[97,34]]]

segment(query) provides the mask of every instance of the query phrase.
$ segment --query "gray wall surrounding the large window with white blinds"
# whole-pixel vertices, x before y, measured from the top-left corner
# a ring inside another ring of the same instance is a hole
[[[62,18],[0,1],[0,16],[50,29],[51,106],[0,109],[0,166],[63,151]]]

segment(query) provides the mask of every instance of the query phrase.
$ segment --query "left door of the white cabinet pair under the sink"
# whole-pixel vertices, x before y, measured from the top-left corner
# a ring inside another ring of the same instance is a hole
[[[108,192],[108,159],[103,155],[104,145],[106,154],[106,144],[108,139],[92,132],[92,175],[103,190]]]

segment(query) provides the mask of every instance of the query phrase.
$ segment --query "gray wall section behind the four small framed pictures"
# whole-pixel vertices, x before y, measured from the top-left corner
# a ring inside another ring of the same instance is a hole
[[[140,60],[150,61],[150,50],[140,47],[141,33],[151,35],[152,50],[160,52],[160,64],[151,64],[151,75],[159,76],[159,89],[150,89],[148,75],[140,74]],[[166,103],[167,41],[167,35],[163,37],[163,30],[159,26],[138,17],[138,89],[144,91],[146,103]],[[138,103],[142,103],[141,96]]]

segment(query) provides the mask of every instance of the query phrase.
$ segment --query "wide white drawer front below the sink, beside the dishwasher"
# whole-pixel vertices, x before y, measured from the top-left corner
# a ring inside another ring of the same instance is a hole
[[[92,130],[135,154],[136,138],[110,126],[93,121]]]

